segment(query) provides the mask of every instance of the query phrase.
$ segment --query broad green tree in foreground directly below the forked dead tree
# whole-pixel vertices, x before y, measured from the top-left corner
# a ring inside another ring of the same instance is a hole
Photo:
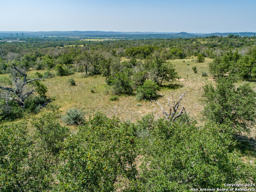
[[[184,192],[250,182],[255,167],[230,150],[234,147],[230,132],[232,128],[214,123],[196,127],[162,119],[154,122],[150,134],[137,140],[140,171],[124,191]]]

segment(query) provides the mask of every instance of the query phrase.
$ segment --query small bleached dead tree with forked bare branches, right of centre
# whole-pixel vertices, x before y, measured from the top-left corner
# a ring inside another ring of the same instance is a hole
[[[176,112],[178,111],[179,106],[180,106],[180,101],[182,100],[182,98],[185,97],[185,94],[186,94],[187,92],[188,92],[188,91],[186,91],[184,94],[182,94],[182,95],[180,96],[180,99],[178,100],[177,103],[175,103],[174,98],[173,98],[173,96],[172,96],[172,99],[173,99],[173,106],[171,106],[171,104],[170,104],[170,96],[169,96],[169,99],[168,99],[168,103],[169,103],[169,106],[170,106],[170,112],[169,112],[169,113],[166,112],[166,111],[162,108],[162,106],[159,104],[158,101],[152,100],[152,99],[150,98],[150,100],[151,100],[151,105],[152,105],[152,102],[153,102],[153,101],[156,102],[156,103],[160,106],[161,110],[163,111],[163,114],[164,114],[164,116],[166,117],[166,120],[174,122],[174,121],[176,120],[176,118],[178,118],[178,117],[182,116],[184,113],[186,113],[185,108],[182,107],[181,110],[180,110],[180,112],[179,112],[177,115],[175,115]],[[173,112],[172,112],[172,109],[173,109]]]

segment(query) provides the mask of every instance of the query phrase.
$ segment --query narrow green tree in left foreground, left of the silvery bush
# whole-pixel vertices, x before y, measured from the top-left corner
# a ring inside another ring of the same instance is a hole
[[[32,126],[35,128],[34,144],[31,147],[27,160],[28,188],[31,191],[47,192],[52,190],[58,165],[60,150],[63,149],[64,139],[69,134],[69,129],[60,126],[58,119],[60,112],[58,106],[51,106],[52,111],[33,118]]]

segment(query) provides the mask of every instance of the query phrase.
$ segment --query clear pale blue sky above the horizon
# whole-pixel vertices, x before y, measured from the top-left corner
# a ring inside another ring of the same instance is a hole
[[[0,0],[0,31],[256,32],[256,0]]]

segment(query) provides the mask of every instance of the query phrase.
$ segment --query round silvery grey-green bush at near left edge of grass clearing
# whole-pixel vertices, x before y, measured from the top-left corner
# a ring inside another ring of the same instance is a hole
[[[82,124],[84,122],[84,112],[77,108],[69,109],[63,117],[63,120],[66,124],[70,125]]]

